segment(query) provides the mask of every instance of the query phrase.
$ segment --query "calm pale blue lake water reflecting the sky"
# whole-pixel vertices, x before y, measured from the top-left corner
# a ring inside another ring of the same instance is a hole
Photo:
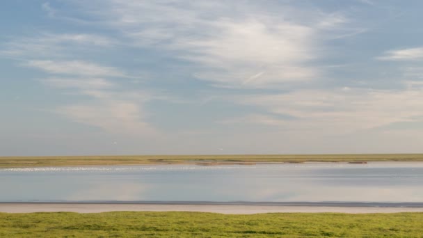
[[[422,203],[423,163],[0,169],[0,202]]]

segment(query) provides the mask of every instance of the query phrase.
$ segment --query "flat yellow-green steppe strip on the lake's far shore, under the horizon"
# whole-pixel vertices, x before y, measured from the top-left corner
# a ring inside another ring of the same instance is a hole
[[[256,164],[303,162],[423,161],[423,154],[234,154],[124,155],[77,157],[0,157],[0,168],[43,166],[111,166],[141,164]]]

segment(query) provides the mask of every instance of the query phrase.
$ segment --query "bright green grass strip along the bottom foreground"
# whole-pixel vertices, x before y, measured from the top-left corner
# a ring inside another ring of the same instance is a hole
[[[423,213],[0,213],[0,237],[423,237]]]

